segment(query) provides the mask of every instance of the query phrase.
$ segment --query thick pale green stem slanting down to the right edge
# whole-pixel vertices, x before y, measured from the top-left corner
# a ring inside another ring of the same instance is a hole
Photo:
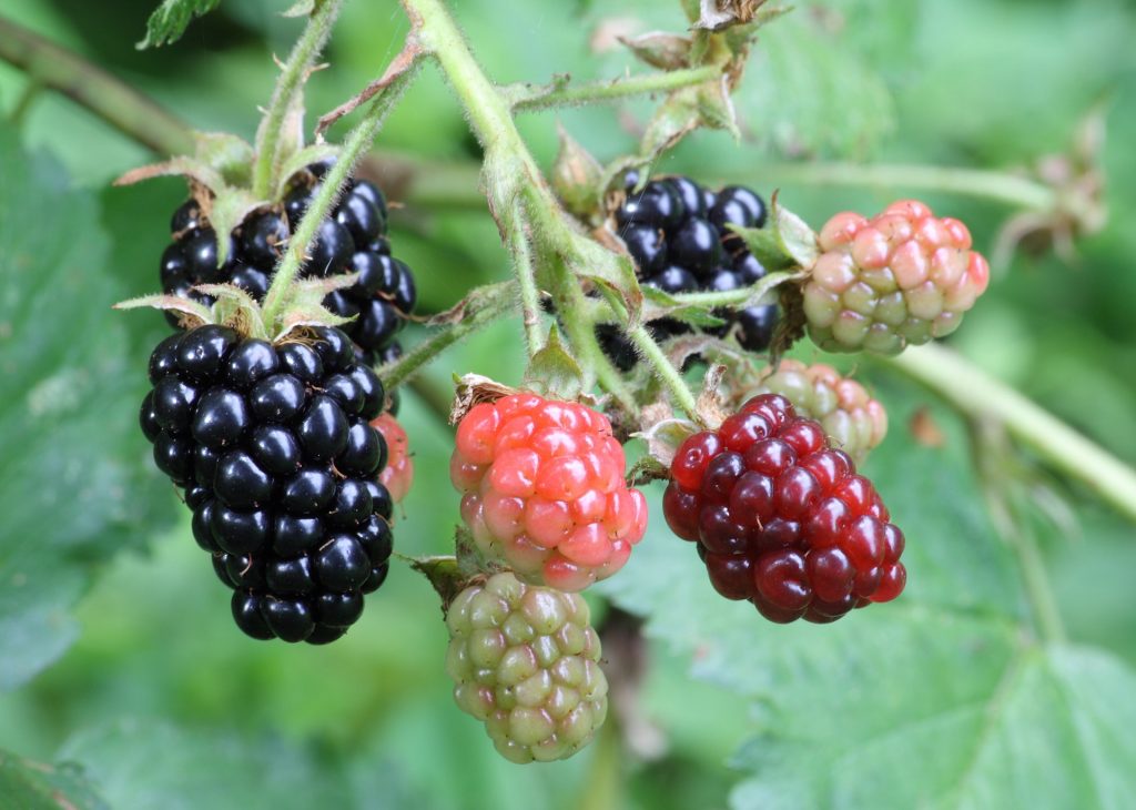
[[[922,383],[967,416],[1000,421],[1052,467],[1136,520],[1136,470],[1010,386],[934,344],[880,361]]]

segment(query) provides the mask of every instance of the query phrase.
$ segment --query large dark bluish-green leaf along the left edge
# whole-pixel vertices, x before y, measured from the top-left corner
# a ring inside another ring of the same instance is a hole
[[[145,346],[90,194],[0,133],[0,688],[58,658],[91,569],[141,548],[174,506],[137,428]],[[65,235],[66,237],[61,237]]]

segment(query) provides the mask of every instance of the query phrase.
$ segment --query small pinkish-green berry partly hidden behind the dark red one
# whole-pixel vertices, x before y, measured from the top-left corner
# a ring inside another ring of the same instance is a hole
[[[767,393],[782,394],[797,414],[819,421],[832,445],[846,452],[857,464],[887,435],[884,406],[860,383],[842,377],[832,366],[782,360],[776,371],[766,368],[761,373],[761,384],[742,400]]]

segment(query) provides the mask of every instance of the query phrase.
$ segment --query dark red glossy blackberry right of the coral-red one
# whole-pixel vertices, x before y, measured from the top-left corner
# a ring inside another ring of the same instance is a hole
[[[903,590],[903,533],[871,482],[779,394],[687,439],[670,475],[667,524],[720,594],[772,621],[834,621]]]

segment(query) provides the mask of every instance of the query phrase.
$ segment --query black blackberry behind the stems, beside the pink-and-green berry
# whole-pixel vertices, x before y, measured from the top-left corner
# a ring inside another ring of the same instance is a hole
[[[615,216],[617,233],[635,260],[643,284],[671,294],[728,292],[765,277],[766,268],[726,227],[765,226],[766,203],[755,192],[740,185],[713,192],[690,177],[653,179],[636,192],[637,183],[638,175],[628,175],[627,199]],[[776,304],[716,315],[728,323],[707,332],[724,336],[733,331],[746,351],[769,348],[777,324]],[[649,323],[648,328],[655,340],[663,340],[693,327],[661,318]],[[619,368],[626,371],[635,366],[635,351],[618,327],[601,326],[599,337]]]

